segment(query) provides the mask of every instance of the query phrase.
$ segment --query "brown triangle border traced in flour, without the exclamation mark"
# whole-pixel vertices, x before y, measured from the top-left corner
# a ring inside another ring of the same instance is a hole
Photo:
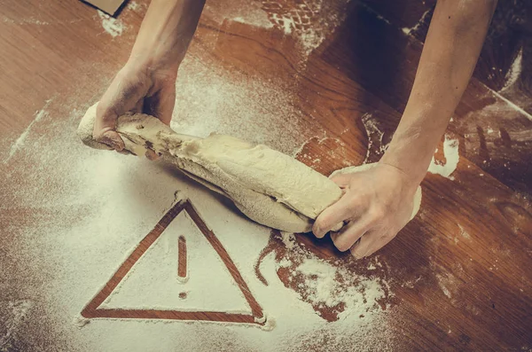
[[[191,311],[191,310],[170,310],[170,309],[100,309],[99,306],[106,301],[107,297],[120,285],[121,281],[127,277],[129,270],[135,266],[142,256],[153,246],[160,235],[167,229],[168,225],[176,219],[182,211],[185,211],[192,222],[195,223],[200,232],[205,236],[208,243],[213,246],[216,254],[220,256],[226,269],[229,270],[231,278],[239,287],[240,292],[244,295],[247,304],[251,308],[251,314],[245,313],[228,313],[220,311]],[[264,325],[266,317],[261,305],[254,298],[244,278],[240,274],[231,256],[215,233],[207,227],[207,223],[201,218],[200,214],[193,207],[190,199],[178,201],[168,212],[162,216],[153,230],[150,231],[137,244],[133,252],[121,263],[120,267],[109,278],[106,285],[87,303],[82,309],[82,317],[87,319],[94,318],[111,318],[111,319],[163,319],[163,320],[187,320],[187,321],[210,321],[210,322],[227,322],[227,323],[244,323]]]

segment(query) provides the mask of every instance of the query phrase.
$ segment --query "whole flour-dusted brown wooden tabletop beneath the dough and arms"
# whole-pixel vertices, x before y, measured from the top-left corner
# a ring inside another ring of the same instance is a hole
[[[264,143],[325,175],[379,160],[434,2],[383,4],[207,3],[180,67],[172,127]],[[147,2],[129,2],[112,20],[82,2],[7,0],[0,350],[529,350],[532,122],[522,4],[496,14],[434,154],[419,215],[355,261],[328,237],[249,222],[171,168],[76,139],[82,114],[128,58]],[[516,31],[520,40],[508,40]],[[218,250],[188,213],[157,225],[179,199],[190,200]],[[101,292],[101,304],[85,310]]]

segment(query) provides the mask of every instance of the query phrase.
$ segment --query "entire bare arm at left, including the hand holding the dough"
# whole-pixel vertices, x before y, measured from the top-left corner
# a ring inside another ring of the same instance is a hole
[[[93,136],[121,151],[116,119],[136,111],[169,124],[176,100],[177,69],[198,26],[205,0],[153,0],[128,62],[100,99]],[[154,158],[155,155],[148,155]]]

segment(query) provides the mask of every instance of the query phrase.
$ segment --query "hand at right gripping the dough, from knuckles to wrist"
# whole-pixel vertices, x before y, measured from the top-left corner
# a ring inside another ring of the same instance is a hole
[[[354,174],[333,176],[344,195],[316,219],[312,231],[323,238],[337,223],[345,225],[331,233],[340,251],[350,249],[357,259],[371,255],[395,238],[411,219],[419,182],[403,170],[385,163]]]

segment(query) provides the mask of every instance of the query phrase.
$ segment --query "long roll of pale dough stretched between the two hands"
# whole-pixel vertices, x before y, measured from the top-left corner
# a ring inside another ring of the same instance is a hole
[[[97,106],[90,106],[83,116],[78,136],[85,145],[109,149],[92,137]],[[144,156],[153,150],[185,175],[231,199],[255,222],[281,231],[310,231],[317,215],[342,194],[326,176],[266,145],[217,134],[206,138],[177,134],[144,113],[120,116],[116,131],[129,152]],[[339,229],[340,225],[334,230]]]

